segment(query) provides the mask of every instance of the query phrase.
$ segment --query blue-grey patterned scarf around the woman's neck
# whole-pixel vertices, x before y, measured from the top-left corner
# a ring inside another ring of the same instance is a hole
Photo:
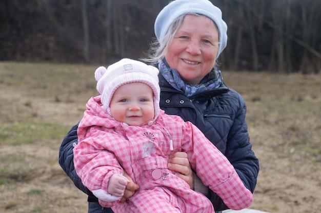
[[[216,67],[213,67],[211,72],[199,84],[186,84],[179,77],[177,71],[169,67],[165,59],[159,60],[158,69],[172,87],[178,91],[183,91],[188,98],[195,93],[219,87],[223,80],[220,70]],[[213,71],[216,72],[216,75],[213,75]]]

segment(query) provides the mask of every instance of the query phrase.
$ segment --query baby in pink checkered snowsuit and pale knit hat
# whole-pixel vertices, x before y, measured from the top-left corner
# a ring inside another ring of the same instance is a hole
[[[157,75],[157,68],[131,59],[97,68],[101,95],[88,101],[73,150],[84,185],[114,212],[214,213],[206,196],[167,168],[168,156],[182,151],[229,208],[248,207],[253,196],[229,160],[192,123],[159,108]],[[129,182],[124,171],[139,189],[120,202]]]

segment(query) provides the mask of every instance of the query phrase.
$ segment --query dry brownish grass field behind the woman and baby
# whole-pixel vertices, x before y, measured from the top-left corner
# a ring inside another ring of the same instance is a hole
[[[87,212],[58,150],[97,94],[96,67],[0,62],[0,212]],[[260,160],[250,207],[321,212],[321,75],[223,70],[223,77],[247,103]]]

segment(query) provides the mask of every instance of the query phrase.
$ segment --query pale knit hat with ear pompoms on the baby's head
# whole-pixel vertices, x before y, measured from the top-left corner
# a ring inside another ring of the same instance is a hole
[[[101,93],[103,108],[110,112],[110,101],[119,86],[132,82],[141,82],[150,86],[154,92],[154,120],[159,115],[160,88],[158,85],[158,69],[143,62],[122,59],[107,67],[98,67],[95,71],[97,90]]]

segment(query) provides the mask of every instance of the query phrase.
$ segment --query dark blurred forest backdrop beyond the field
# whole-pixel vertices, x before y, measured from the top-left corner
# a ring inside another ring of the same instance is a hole
[[[223,12],[224,69],[321,72],[321,0],[210,0]],[[109,63],[139,59],[169,0],[4,0],[0,60]]]

